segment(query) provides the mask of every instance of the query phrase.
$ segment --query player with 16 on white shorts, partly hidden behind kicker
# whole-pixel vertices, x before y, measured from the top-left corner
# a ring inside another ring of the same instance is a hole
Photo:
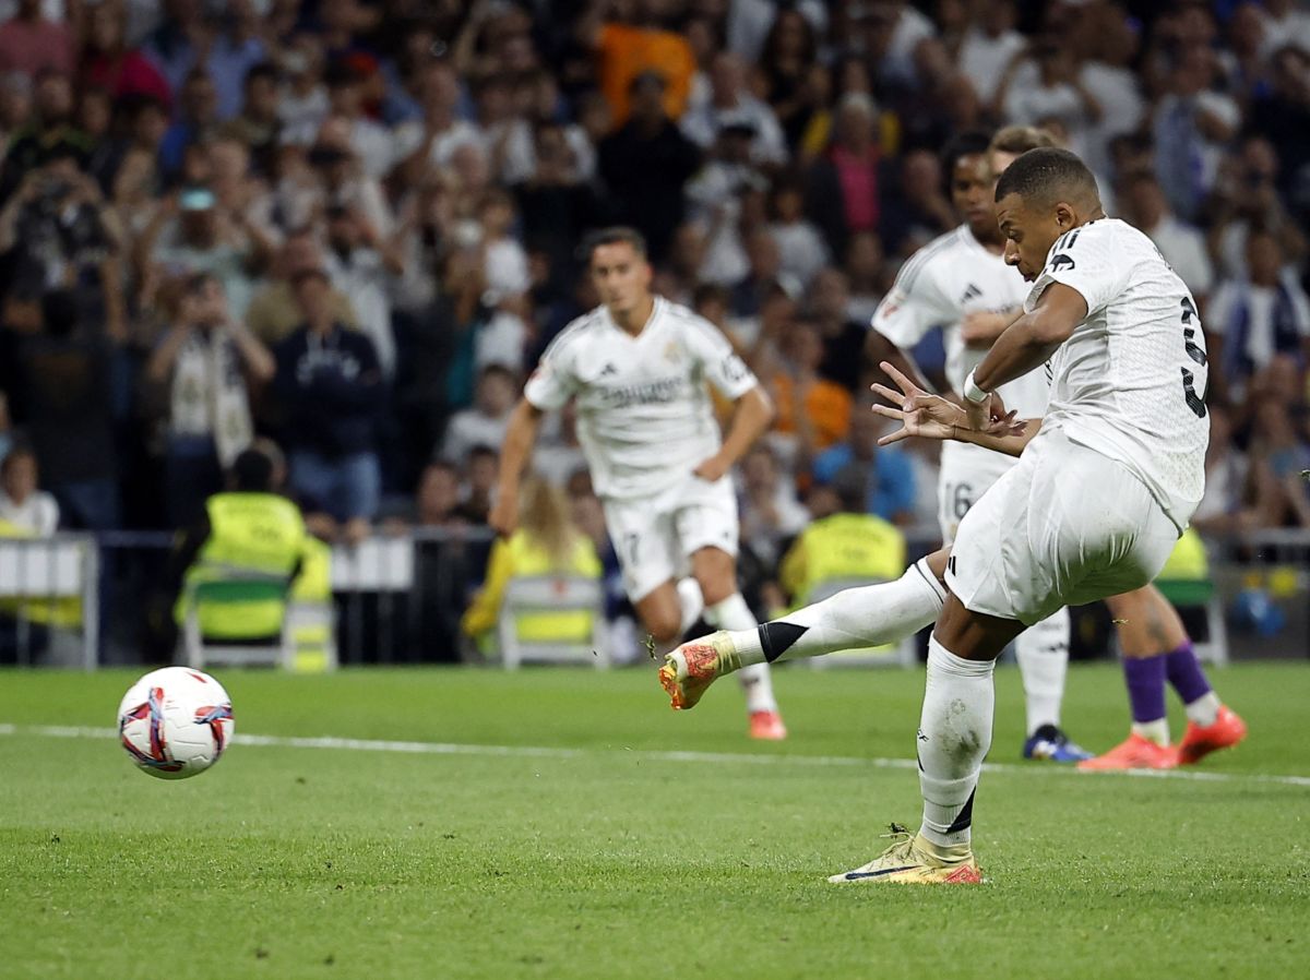
[[[1001,255],[1005,241],[996,223],[992,190],[996,174],[1014,157],[1051,145],[1055,141],[1044,131],[1014,126],[998,132],[994,144],[985,134],[967,132],[943,151],[951,202],[964,224],[905,262],[872,318],[874,330],[888,342],[880,345],[883,352],[905,373],[914,372],[908,351],[941,326],[946,377],[959,392],[1001,330],[1018,317],[1027,287]],[[998,394],[1020,418],[1036,418],[1045,410],[1051,388],[1044,372],[1035,371],[1010,381]],[[973,502],[1013,465],[1011,457],[968,443],[948,442],[942,447],[938,521],[947,546]],[[1069,669],[1069,611],[1057,609],[1020,633],[1014,652],[1027,709],[1023,757],[1056,763],[1090,759],[1091,753],[1070,742],[1060,727]]]

